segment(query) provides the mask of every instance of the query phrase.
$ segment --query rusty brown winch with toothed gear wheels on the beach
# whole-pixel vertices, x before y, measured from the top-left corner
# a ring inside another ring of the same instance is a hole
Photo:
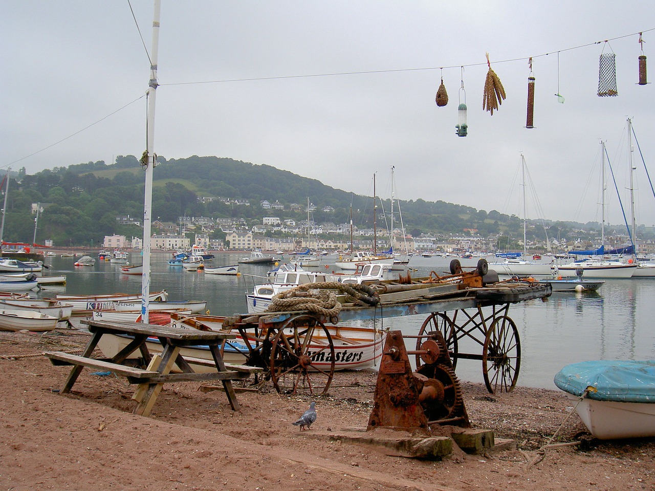
[[[435,331],[421,337],[420,349],[408,351],[400,331],[387,334],[368,429],[430,433],[436,425],[470,427],[443,335]],[[409,355],[419,355],[415,370]]]

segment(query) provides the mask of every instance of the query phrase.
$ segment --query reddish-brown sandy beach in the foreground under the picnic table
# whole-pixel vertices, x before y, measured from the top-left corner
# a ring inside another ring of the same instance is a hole
[[[517,387],[491,395],[462,383],[472,426],[517,448],[443,460],[390,456],[322,435],[365,429],[375,372],[337,373],[316,398],[309,431],[291,425],[309,396],[265,385],[238,393],[166,386],[149,418],[134,416],[134,386],[85,369],[60,395],[68,369],[48,350],[76,350],[87,335],[0,333],[0,488],[5,490],[630,490],[655,489],[655,440],[591,438],[563,393]],[[556,433],[555,439],[550,440]],[[580,442],[546,448],[548,443]]]

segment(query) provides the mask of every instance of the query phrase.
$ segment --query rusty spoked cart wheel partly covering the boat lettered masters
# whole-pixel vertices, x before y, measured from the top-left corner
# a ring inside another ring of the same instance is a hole
[[[271,347],[271,380],[280,393],[324,394],[334,376],[335,352],[325,325],[312,316],[289,319]]]

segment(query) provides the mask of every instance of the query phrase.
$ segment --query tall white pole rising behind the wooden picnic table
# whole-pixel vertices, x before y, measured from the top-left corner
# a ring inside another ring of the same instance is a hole
[[[161,1],[155,0],[153,12],[153,44],[150,58],[150,79],[148,81],[148,118],[146,153],[141,158],[141,165],[145,166],[145,192],[143,196],[143,251],[141,276],[141,319],[149,319],[150,294],[150,234],[152,225],[153,205],[153,169],[155,168],[155,96],[157,95],[157,54],[159,52],[159,12]],[[145,160],[145,162],[143,162]]]

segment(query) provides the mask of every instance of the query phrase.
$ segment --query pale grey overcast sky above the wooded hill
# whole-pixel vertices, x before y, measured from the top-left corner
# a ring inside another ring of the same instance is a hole
[[[129,3],[0,0],[0,9],[0,169],[140,156],[149,61]],[[153,1],[132,9],[150,51]],[[603,139],[629,216],[627,117],[655,179],[655,86],[637,84],[635,34],[650,82],[654,14],[652,0],[162,0],[155,152],[269,164],[358,194],[371,193],[377,172],[382,197],[396,166],[398,198],[521,217],[522,153],[534,183],[527,215],[586,222],[601,219]],[[493,115],[482,109],[485,52],[507,94]],[[601,52],[616,54],[617,97],[597,96]],[[461,65],[466,137],[455,135]],[[449,103],[438,107],[442,73]],[[321,76],[282,78],[295,75]],[[634,156],[637,222],[653,225],[636,145]],[[607,181],[607,221],[622,223]]]

